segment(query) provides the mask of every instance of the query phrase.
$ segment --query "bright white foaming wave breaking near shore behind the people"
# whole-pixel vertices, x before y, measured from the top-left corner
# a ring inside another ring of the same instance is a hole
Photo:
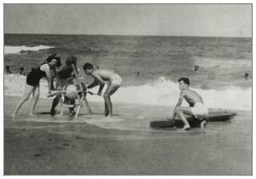
[[[25,89],[25,84],[25,76],[17,74],[4,75],[4,95],[22,95],[22,92]],[[106,88],[107,85],[104,90],[106,90]],[[45,80],[41,80],[40,97],[46,98],[47,89],[47,82]],[[98,89],[95,88],[91,91],[96,92],[97,90]],[[230,86],[225,90],[193,90],[197,91],[201,95],[207,107],[246,111],[252,110],[252,88],[242,90],[238,87]],[[146,105],[173,107],[177,103],[178,96],[179,90],[177,83],[174,83],[164,77],[160,77],[153,83],[121,87],[113,95],[112,100],[113,102],[121,103],[140,103]],[[88,95],[88,100],[103,102],[102,96],[97,95]],[[183,101],[183,105],[188,106],[185,101]]]

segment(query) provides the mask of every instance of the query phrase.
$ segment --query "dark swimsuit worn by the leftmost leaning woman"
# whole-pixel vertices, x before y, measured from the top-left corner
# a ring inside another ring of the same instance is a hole
[[[32,71],[26,76],[26,84],[37,86],[40,79],[44,77],[46,77],[46,74],[44,71],[40,70],[40,66],[38,66],[38,68],[32,68]]]

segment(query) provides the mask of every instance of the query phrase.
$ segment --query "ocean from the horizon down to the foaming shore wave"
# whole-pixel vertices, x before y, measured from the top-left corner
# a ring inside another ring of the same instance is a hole
[[[252,79],[244,78],[246,72],[252,77],[252,38],[4,34],[4,65],[12,72],[20,66],[29,72],[49,54],[61,55],[62,62],[75,55],[80,69],[91,62],[119,73],[116,102],[174,106],[177,79],[188,77],[208,107],[252,110]],[[199,71],[192,72],[194,66]],[[84,75],[84,81],[92,79]],[[5,75],[4,95],[20,96],[25,84],[25,76]],[[42,80],[41,97],[46,93]]]

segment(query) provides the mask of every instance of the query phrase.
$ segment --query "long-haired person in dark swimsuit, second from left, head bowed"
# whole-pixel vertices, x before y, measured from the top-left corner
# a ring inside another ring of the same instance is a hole
[[[73,66],[74,66],[74,69],[73,69]],[[67,85],[73,84],[73,78],[75,78],[73,70],[78,72],[77,58],[73,55],[70,55],[70,56],[67,56],[66,65],[55,69],[55,77],[58,79],[56,84],[57,90],[64,90],[64,88],[67,87]],[[67,103],[71,105],[75,104],[75,99],[66,98],[65,101],[67,101]],[[59,102],[60,102],[60,96],[57,95],[55,96],[55,99],[52,102],[52,107],[50,109],[50,114],[52,116],[55,115],[55,107],[58,105]],[[70,112],[70,115],[73,116],[75,114],[74,107],[69,107],[69,112]]]

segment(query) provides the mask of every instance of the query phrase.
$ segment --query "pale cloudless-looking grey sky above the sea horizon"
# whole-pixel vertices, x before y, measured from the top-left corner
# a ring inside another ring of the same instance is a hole
[[[4,4],[5,33],[251,37],[250,4]]]

